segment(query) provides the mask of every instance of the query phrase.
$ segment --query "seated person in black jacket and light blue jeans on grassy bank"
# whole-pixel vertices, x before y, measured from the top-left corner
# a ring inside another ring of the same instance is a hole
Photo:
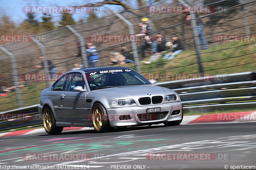
[[[179,38],[177,37],[177,35],[172,34],[172,48],[173,50],[169,53],[167,53],[163,59],[168,59],[171,60],[175,57],[175,55],[179,54],[180,52],[183,51],[183,47],[182,44],[180,43]]]

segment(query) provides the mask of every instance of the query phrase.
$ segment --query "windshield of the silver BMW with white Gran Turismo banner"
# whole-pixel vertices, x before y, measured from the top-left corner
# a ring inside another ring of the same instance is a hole
[[[87,72],[86,79],[91,90],[128,85],[151,85],[146,78],[131,69]]]

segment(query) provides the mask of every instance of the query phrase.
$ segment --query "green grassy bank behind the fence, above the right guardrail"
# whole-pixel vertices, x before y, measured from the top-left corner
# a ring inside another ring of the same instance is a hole
[[[231,49],[227,49],[227,48],[231,48]],[[250,44],[248,42],[231,42],[231,43],[219,45],[207,50],[202,50],[201,53],[205,53],[205,54],[201,54],[201,57],[202,57],[201,60],[202,62],[205,62],[205,63],[202,63],[204,74],[220,75],[220,74],[231,74],[231,73],[256,70],[255,69],[256,63],[252,63],[252,62],[255,62],[255,58],[256,58],[255,57],[256,43]],[[188,51],[183,51],[180,54],[176,55],[172,60],[164,60],[161,58],[151,64],[140,63],[142,64],[140,66],[142,75],[147,77],[148,73],[157,73],[158,75],[198,73],[199,71],[198,71],[197,57],[195,54],[196,54],[195,51],[188,50]],[[235,58],[230,58],[230,57],[235,57]],[[146,59],[145,61],[147,60],[148,59]],[[217,61],[212,61],[212,60],[217,60]],[[212,62],[209,62],[209,61],[212,61]],[[247,64],[247,63],[251,63],[251,64]],[[190,65],[190,64],[193,64],[193,65]],[[242,64],[245,64],[245,65],[242,65]],[[189,65],[189,66],[185,66],[185,65]],[[236,65],[240,65],[240,66],[236,66]],[[132,64],[125,64],[125,66],[135,69],[135,66]],[[214,69],[217,69],[217,70],[214,70]],[[168,80],[163,79],[163,80],[157,80],[157,81],[163,82]]]

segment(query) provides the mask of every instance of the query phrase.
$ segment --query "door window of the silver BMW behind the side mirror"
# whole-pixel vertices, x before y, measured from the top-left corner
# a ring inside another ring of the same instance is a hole
[[[84,88],[85,82],[83,74],[81,73],[70,73],[68,78],[67,88],[65,91],[73,92],[74,87],[82,86]]]

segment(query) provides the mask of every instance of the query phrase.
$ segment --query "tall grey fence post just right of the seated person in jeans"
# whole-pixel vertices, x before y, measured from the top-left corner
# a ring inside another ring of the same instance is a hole
[[[185,1],[183,0],[179,0],[180,3],[182,3],[184,6],[190,6],[189,4],[187,4]],[[203,65],[201,62],[201,47],[200,47],[200,41],[199,41],[199,36],[198,36],[198,32],[197,32],[197,24],[196,24],[196,14],[194,14],[193,12],[189,12],[191,15],[191,28],[193,31],[193,36],[194,36],[194,41],[196,44],[196,56],[197,56],[197,63],[198,63],[198,68],[199,68],[199,72],[203,73]]]

